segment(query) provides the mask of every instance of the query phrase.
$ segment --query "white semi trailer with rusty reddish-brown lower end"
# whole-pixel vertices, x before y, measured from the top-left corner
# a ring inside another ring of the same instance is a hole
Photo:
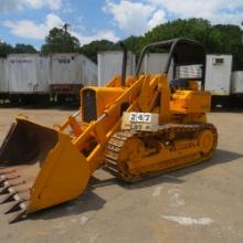
[[[97,65],[83,54],[50,55],[49,86],[52,95],[65,98],[78,96],[86,85],[97,85]]]

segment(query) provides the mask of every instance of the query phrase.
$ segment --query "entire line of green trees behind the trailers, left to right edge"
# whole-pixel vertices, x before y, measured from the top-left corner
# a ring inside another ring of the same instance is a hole
[[[211,24],[208,20],[196,18],[178,19],[159,24],[141,36],[131,35],[123,41],[128,50],[139,55],[144,45],[173,38],[197,40],[204,44],[208,53],[232,54],[233,70],[243,70],[243,31],[239,25]],[[54,28],[45,38],[45,43],[40,52],[42,54],[80,52],[97,62],[97,52],[118,49],[118,43],[107,40],[93,41],[89,44],[81,45],[80,41],[72,36],[68,31]],[[9,53],[38,53],[38,51],[28,44],[20,43],[11,46],[7,43],[0,43],[0,56],[4,57]]]

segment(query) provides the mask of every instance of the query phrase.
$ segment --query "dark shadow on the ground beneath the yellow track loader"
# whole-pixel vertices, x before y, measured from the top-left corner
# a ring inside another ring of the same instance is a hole
[[[87,211],[98,211],[106,203],[106,201],[103,198],[101,198],[93,191],[94,189],[98,187],[108,187],[112,184],[118,184],[127,190],[135,190],[139,188],[151,187],[151,186],[163,183],[163,182],[183,183],[184,180],[180,179],[180,177],[184,175],[193,173],[199,170],[203,170],[208,167],[216,166],[220,163],[233,162],[234,160],[242,158],[242,157],[243,155],[241,154],[218,149],[214,156],[208,161],[204,161],[204,162],[201,162],[196,166],[188,167],[188,168],[183,168],[183,169],[170,172],[170,173],[163,173],[163,175],[160,175],[154,178],[149,178],[137,183],[125,183],[113,177],[109,177],[107,179],[99,179],[97,177],[92,177],[88,188],[77,199],[71,202],[67,202],[67,203],[62,203],[51,209],[40,211],[38,213],[31,214],[29,219],[30,220],[43,220],[43,219],[49,220],[49,219],[63,218],[63,216],[68,216],[68,215],[78,215]]]

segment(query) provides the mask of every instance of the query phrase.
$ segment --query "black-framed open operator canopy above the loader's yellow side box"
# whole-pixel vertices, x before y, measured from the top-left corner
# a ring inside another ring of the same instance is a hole
[[[168,55],[166,64],[161,64],[161,70],[158,73],[168,75],[172,94],[177,89],[204,89],[205,50],[199,42],[173,39],[145,46],[138,61],[136,75],[140,73],[142,61],[148,51]]]

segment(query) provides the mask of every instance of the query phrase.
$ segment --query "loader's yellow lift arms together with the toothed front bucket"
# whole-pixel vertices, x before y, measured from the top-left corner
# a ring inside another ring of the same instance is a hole
[[[17,212],[10,222],[82,194],[92,173],[104,163],[105,146],[119,129],[123,112],[140,110],[138,98],[145,82],[159,82],[160,76],[129,77],[129,85],[109,87],[110,94],[119,95],[89,123],[77,122],[82,109],[54,128],[18,117],[0,150],[2,203],[17,201],[8,210]]]

